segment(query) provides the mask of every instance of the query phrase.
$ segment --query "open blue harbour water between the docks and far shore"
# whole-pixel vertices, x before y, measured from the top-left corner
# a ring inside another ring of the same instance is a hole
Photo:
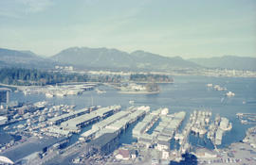
[[[225,96],[227,91],[210,90],[206,87],[208,83],[226,87],[228,91],[233,91],[235,96],[228,98]],[[185,110],[188,112],[187,117],[195,109],[211,110],[212,116],[219,113],[221,116],[229,118],[233,124],[231,131],[225,134],[221,147],[243,140],[247,128],[251,126],[250,124],[240,124],[235,114],[237,112],[256,112],[256,78],[174,76],[174,84],[160,84],[159,86],[161,92],[158,94],[120,94],[112,88],[101,86],[100,89],[105,90],[106,93],[98,94],[96,91],[84,91],[82,95],[49,99],[44,94],[25,96],[22,92],[12,92],[10,99],[20,102],[46,100],[55,105],[76,105],[77,109],[98,105],[101,107],[121,105],[122,108],[126,108],[130,106],[129,101],[134,100],[135,105],[150,106],[152,110],[158,107],[169,107],[171,113]],[[243,101],[248,103],[243,104]],[[131,131],[130,128],[124,133],[124,136],[121,136],[122,142],[134,141],[131,137]],[[194,137],[191,140],[194,145],[200,146],[204,143],[204,141],[194,139]]]

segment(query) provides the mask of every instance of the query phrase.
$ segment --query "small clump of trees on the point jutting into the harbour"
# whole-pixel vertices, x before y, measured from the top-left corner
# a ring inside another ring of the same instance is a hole
[[[131,74],[131,81],[137,82],[174,82],[174,79],[164,74]]]

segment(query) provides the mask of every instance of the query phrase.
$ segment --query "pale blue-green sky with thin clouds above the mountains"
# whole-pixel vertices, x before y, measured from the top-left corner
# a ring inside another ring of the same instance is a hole
[[[0,0],[0,47],[256,58],[255,0]]]

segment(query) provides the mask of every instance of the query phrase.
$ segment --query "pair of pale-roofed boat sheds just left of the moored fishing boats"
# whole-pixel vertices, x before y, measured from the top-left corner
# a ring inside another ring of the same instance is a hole
[[[169,151],[170,140],[174,137],[174,132],[180,126],[185,116],[186,112],[184,111],[168,115],[167,108],[156,109],[135,126],[133,137],[137,138],[137,141],[146,147],[156,144],[156,149],[159,151]],[[158,120],[159,123],[155,126],[152,134],[148,134],[147,131]]]

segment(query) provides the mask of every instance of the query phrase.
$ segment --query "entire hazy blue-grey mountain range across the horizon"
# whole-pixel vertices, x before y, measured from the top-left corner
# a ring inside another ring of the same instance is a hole
[[[0,67],[53,68],[73,65],[81,69],[114,69],[133,71],[168,71],[173,69],[228,68],[256,70],[256,58],[224,56],[220,58],[168,58],[157,54],[118,49],[71,47],[57,55],[42,58],[30,51],[0,48]]]

